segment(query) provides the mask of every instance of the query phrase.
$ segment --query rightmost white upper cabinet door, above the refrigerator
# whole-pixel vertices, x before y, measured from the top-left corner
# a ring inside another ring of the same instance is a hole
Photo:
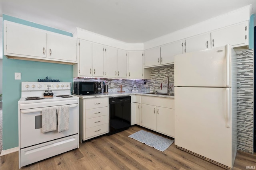
[[[245,23],[240,23],[224,29],[219,29],[211,33],[212,47],[220,47],[227,44],[242,45],[246,42]],[[247,27],[248,29],[248,27]]]

